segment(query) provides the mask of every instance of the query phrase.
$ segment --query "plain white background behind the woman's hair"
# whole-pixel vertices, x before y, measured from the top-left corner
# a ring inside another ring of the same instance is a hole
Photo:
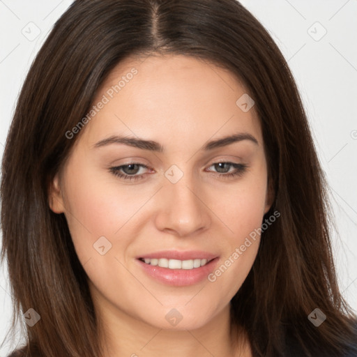
[[[301,91],[332,192],[338,231],[333,234],[333,247],[340,288],[357,310],[357,1],[241,2],[278,43]],[[24,76],[54,22],[70,3],[0,0],[0,158]],[[35,36],[36,31],[40,31],[37,38],[26,38]],[[9,291],[3,266],[0,344],[10,323]],[[13,347],[7,345],[0,349],[0,356],[6,356],[10,349]]]

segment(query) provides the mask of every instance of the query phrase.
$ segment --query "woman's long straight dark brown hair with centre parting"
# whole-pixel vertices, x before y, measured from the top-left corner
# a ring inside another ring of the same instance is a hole
[[[255,100],[280,218],[231,301],[254,356],[342,356],[356,336],[337,286],[326,182],[293,76],[277,45],[235,0],[82,0],[54,25],[26,77],[2,162],[1,225],[14,321],[29,308],[26,356],[100,356],[86,273],[48,188],[79,135],[100,84],[127,56],[184,54],[230,70]],[[238,98],[237,98],[238,99]],[[84,128],[85,130],[85,128]],[[314,326],[316,307],[326,321]],[[80,323],[78,323],[80,321]],[[357,350],[354,350],[357,354]]]

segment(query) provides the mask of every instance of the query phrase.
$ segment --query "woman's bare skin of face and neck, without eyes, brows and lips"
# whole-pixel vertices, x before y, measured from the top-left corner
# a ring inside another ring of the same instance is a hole
[[[215,282],[170,287],[146,275],[135,257],[204,250],[222,264],[261,227],[272,193],[255,108],[236,105],[247,91],[229,71],[181,55],[121,61],[94,102],[132,68],[137,75],[82,129],[50,189],[50,207],[66,215],[89,276],[105,356],[162,356],[168,348],[172,357],[252,356],[243,331],[230,330],[229,301],[252,268],[259,236]],[[241,132],[257,144],[246,139],[202,150],[209,140]],[[164,151],[94,146],[112,135],[154,140]],[[227,178],[219,174],[236,169],[218,171],[219,161],[247,168]],[[137,181],[109,171],[130,162],[150,169],[137,169]],[[177,183],[165,176],[172,165],[183,172]],[[112,244],[105,255],[93,249],[100,236]],[[183,317],[176,326],[165,319],[173,308]]]

